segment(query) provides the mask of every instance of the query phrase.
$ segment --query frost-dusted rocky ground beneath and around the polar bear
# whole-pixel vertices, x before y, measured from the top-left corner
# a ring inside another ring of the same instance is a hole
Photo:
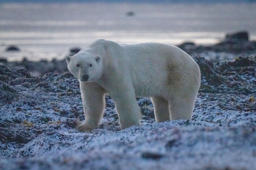
[[[0,65],[1,170],[256,169],[256,57],[212,63],[202,72],[191,121],[155,123],[138,99],[141,126],[120,130],[106,96],[100,128],[79,132],[79,82],[70,73],[34,77]]]

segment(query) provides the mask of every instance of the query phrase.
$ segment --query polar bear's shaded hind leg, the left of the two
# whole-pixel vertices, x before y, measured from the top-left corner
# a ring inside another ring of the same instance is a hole
[[[155,121],[170,120],[168,101],[162,97],[151,97],[151,101],[154,106]]]

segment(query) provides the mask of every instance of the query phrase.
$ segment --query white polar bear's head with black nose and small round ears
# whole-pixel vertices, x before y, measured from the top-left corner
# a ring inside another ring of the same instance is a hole
[[[66,56],[67,68],[83,82],[95,82],[102,75],[102,61],[100,56],[93,56],[88,52],[80,51],[73,57]]]

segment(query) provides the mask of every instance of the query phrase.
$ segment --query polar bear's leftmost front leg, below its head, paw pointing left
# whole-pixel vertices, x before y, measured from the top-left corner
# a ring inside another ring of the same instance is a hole
[[[106,91],[97,83],[89,82],[80,82],[80,90],[85,121],[79,123],[77,129],[79,131],[91,131],[97,129],[99,128],[99,123],[105,108]]]

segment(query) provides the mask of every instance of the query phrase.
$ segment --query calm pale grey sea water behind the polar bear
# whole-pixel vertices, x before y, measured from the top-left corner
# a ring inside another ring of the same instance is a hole
[[[256,40],[255,9],[256,3],[0,3],[0,58],[63,59],[97,38],[213,44],[247,30]],[[21,51],[5,52],[11,44]]]

